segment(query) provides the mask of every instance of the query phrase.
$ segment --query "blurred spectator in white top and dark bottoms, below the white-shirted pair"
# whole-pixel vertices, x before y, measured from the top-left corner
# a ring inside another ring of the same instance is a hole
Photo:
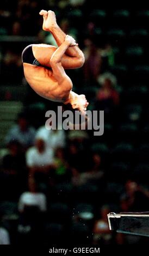
[[[42,225],[47,210],[47,198],[39,191],[38,184],[30,178],[28,191],[23,192],[18,200],[20,218],[17,225],[17,241],[20,244],[41,242]]]

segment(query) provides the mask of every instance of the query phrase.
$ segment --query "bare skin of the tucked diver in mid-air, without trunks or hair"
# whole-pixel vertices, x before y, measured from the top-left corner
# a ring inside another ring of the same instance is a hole
[[[53,11],[41,10],[40,15],[44,20],[42,28],[52,33],[58,48],[45,44],[33,45],[34,57],[43,66],[23,63],[24,76],[40,96],[52,101],[70,102],[72,108],[86,111],[89,103],[85,95],[72,92],[72,81],[65,73],[65,69],[80,68],[84,64],[84,54],[72,36],[61,31]]]

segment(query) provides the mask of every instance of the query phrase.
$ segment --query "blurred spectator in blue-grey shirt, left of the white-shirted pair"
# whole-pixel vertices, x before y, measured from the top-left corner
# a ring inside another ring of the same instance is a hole
[[[26,150],[33,145],[34,137],[35,129],[29,126],[26,114],[21,113],[18,115],[17,124],[9,130],[5,141],[8,144],[10,141],[16,140]]]

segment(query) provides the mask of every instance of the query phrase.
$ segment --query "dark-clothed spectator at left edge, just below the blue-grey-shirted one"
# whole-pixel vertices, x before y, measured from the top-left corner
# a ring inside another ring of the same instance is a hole
[[[5,195],[5,199],[17,200],[27,184],[26,159],[17,141],[10,141],[8,148],[9,153],[2,161],[0,190]]]

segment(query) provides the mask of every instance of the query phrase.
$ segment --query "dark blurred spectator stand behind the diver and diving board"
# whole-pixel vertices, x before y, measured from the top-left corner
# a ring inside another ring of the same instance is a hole
[[[149,209],[149,9],[100,8],[89,0],[5,0],[0,7],[0,244],[142,244],[116,234],[109,212]],[[67,70],[90,110],[104,110],[104,135],[45,129],[57,104],[23,76],[29,44],[55,45],[41,9],[85,54]]]

